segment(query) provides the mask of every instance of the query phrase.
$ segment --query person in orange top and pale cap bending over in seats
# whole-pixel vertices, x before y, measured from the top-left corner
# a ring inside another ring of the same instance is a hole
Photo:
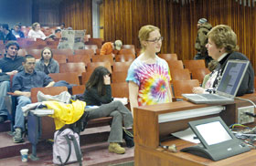
[[[112,57],[114,57],[114,50],[120,50],[121,47],[123,46],[123,43],[121,40],[115,40],[115,42],[106,42],[104,45],[101,47],[101,53],[100,55],[110,55],[112,54]]]

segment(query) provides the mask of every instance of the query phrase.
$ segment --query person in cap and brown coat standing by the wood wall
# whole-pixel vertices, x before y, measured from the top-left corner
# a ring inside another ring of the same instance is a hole
[[[197,55],[194,57],[194,59],[205,59],[206,65],[208,66],[208,62],[210,62],[212,58],[208,56],[206,44],[208,43],[207,35],[212,26],[208,23],[206,18],[200,18],[197,22],[197,28],[198,31],[195,44]]]

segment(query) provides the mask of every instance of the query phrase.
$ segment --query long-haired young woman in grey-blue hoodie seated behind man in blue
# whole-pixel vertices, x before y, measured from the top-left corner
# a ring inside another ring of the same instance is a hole
[[[41,52],[41,58],[36,62],[37,71],[49,73],[59,73],[59,63],[53,58],[52,51],[49,47],[44,47]]]

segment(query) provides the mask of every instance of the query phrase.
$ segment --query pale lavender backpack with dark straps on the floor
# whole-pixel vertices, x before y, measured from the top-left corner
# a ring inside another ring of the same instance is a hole
[[[79,161],[81,166],[79,134],[70,129],[55,131],[52,155],[54,164],[65,165]]]

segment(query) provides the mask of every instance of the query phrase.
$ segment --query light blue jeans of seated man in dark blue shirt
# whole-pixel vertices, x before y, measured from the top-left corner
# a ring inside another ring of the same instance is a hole
[[[25,96],[17,97],[17,105],[16,105],[16,124],[14,129],[20,128],[21,130],[25,130],[25,117],[23,115],[22,107],[31,103],[31,99]]]

